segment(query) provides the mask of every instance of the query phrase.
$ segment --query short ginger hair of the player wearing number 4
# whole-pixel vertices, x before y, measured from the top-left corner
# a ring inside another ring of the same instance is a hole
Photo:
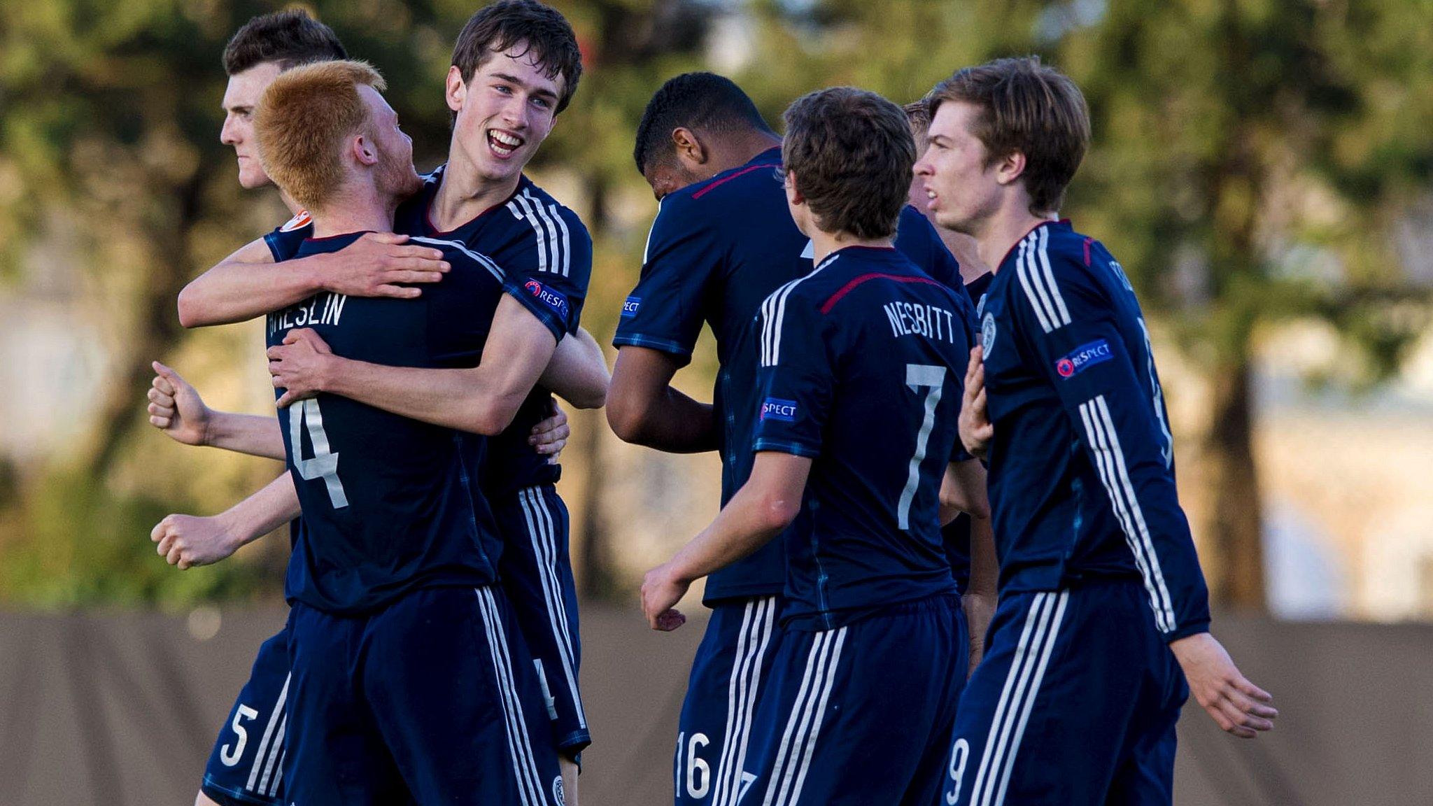
[[[358,86],[387,85],[367,62],[320,62],[281,73],[254,109],[259,161],[274,184],[308,209],[342,181],[344,141],[367,132],[368,105]]]

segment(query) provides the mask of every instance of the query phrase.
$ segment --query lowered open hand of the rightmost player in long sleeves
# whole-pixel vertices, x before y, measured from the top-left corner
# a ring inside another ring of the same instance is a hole
[[[1274,697],[1240,674],[1214,635],[1188,635],[1171,643],[1169,650],[1184,668],[1194,698],[1225,731],[1254,739],[1274,727],[1273,720],[1278,717]]]

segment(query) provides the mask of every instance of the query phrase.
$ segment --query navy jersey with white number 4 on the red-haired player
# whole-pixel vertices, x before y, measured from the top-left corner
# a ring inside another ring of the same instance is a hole
[[[308,240],[297,257],[361,234]],[[437,242],[434,242],[437,245]],[[418,300],[321,293],[268,316],[268,346],[314,328],[338,356],[403,367],[470,367],[504,293],[527,300],[483,255],[443,245],[449,275]],[[340,615],[431,587],[494,579],[493,515],[476,485],[483,437],[320,394],[278,413],[304,528],[285,594]]]

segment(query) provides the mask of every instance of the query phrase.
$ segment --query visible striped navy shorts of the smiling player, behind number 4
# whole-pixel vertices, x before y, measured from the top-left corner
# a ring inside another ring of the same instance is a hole
[[[592,744],[592,734],[577,684],[582,640],[567,554],[567,506],[552,485],[524,488],[492,503],[503,536],[503,592],[532,651],[553,740],[563,756],[573,757]]]

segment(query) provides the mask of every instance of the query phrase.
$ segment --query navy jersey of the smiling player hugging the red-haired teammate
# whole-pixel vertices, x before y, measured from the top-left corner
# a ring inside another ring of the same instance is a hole
[[[553,336],[576,333],[592,277],[592,237],[577,214],[563,207],[523,176],[512,198],[477,218],[443,232],[428,215],[441,188],[446,166],[424,178],[423,191],[404,202],[394,217],[394,231],[461,241],[493,260],[527,293],[543,303],[545,323]],[[441,285],[441,283],[440,283]],[[555,402],[545,389],[533,389],[513,423],[487,443],[483,489],[493,496],[522,488],[555,483],[562,468],[527,445],[527,435],[552,416]]]

